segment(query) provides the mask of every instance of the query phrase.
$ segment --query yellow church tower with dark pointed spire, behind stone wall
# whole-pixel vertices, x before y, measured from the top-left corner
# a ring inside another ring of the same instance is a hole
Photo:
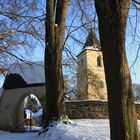
[[[78,58],[77,88],[80,99],[107,100],[103,56],[91,30]]]

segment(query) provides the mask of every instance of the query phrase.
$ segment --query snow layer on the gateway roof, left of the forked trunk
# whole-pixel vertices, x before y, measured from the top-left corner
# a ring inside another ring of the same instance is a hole
[[[44,83],[44,62],[14,63],[9,66],[8,74],[19,74],[27,84]]]

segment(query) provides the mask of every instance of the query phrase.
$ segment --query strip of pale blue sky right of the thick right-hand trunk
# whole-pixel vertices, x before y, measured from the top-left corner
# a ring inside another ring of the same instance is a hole
[[[136,17],[137,15],[137,17]],[[133,83],[140,84],[140,58],[137,57],[140,44],[140,12],[131,6],[127,22],[126,52]],[[136,60],[136,61],[135,61]],[[135,63],[135,64],[134,64]],[[134,64],[134,65],[133,65]],[[133,67],[132,67],[133,65]]]

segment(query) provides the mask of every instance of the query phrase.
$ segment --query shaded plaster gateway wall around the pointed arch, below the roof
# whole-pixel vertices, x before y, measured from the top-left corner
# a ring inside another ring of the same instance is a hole
[[[45,110],[44,86],[4,90],[0,102],[0,129],[17,132],[24,131],[21,105],[24,98],[31,93],[34,93],[40,99],[43,110]]]

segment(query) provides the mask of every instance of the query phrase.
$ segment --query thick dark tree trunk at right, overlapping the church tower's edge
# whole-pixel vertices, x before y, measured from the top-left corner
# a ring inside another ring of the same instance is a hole
[[[95,0],[108,89],[111,140],[139,140],[125,52],[130,0]]]

